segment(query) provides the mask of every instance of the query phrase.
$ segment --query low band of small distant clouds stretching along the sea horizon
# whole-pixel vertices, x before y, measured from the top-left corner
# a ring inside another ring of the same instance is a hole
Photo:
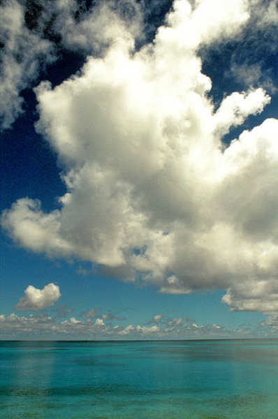
[[[277,315],[269,316],[256,328],[241,325],[238,328],[224,328],[217,323],[198,324],[189,322],[184,325],[106,325],[97,318],[96,321],[78,320],[74,316],[65,321],[43,313],[29,316],[0,315],[1,339],[223,339],[235,337],[272,337],[277,332]]]

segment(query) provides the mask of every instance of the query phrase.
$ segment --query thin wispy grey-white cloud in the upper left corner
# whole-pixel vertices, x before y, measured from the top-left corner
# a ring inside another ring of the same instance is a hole
[[[0,6],[0,128],[10,128],[22,113],[20,91],[36,80],[41,60],[53,60],[52,43],[42,31],[25,24],[22,3],[3,1]]]

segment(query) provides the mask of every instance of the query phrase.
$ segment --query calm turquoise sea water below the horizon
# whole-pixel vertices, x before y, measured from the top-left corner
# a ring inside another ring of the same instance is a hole
[[[277,340],[0,342],[5,419],[277,419]]]

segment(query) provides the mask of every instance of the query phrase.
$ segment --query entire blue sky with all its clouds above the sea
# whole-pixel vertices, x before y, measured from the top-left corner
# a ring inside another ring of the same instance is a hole
[[[0,339],[277,337],[277,0],[3,0]]]

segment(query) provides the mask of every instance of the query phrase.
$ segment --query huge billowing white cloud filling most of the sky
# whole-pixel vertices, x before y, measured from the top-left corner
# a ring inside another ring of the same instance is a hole
[[[238,36],[251,3],[176,0],[154,42],[137,51],[134,31],[113,15],[103,57],[88,56],[54,89],[39,84],[36,129],[68,191],[50,213],[17,200],[1,218],[10,237],[161,293],[223,289],[232,310],[276,311],[278,120],[224,148],[224,135],[270,97],[262,87],[234,92],[215,109],[197,53]]]

